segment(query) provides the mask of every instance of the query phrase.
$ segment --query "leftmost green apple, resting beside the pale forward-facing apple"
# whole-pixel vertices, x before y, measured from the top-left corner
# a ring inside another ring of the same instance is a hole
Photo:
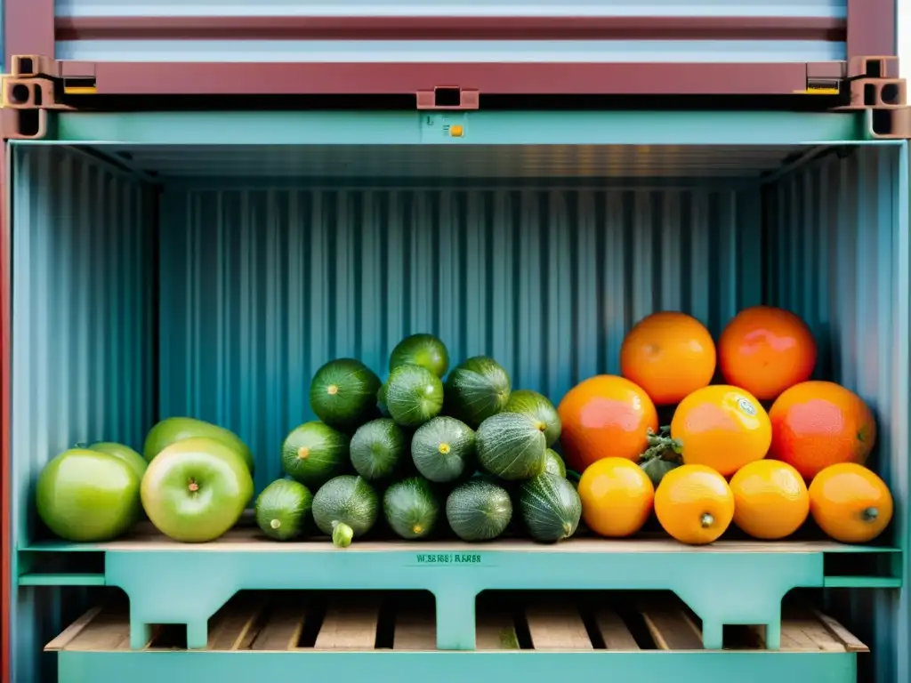
[[[120,458],[74,448],[45,465],[36,490],[38,516],[68,541],[109,541],[139,516],[139,476]]]

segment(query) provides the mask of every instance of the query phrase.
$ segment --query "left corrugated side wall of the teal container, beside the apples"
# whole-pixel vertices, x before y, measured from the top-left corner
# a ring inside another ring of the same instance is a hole
[[[13,148],[13,543],[36,533],[33,484],[75,443],[140,447],[154,410],[154,195],[59,147]],[[14,572],[16,566],[14,566]],[[19,588],[14,651],[38,653],[80,589]],[[53,658],[14,659],[38,681]]]

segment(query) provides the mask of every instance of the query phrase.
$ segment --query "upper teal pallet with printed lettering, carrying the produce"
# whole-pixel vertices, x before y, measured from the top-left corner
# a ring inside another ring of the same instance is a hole
[[[706,648],[722,647],[724,625],[762,624],[781,644],[781,604],[795,587],[824,587],[824,554],[872,552],[828,542],[728,541],[704,548],[668,539],[574,539],[559,545],[498,541],[406,544],[325,541],[279,544],[251,529],[219,542],[182,545],[160,535],[107,545],[48,544],[46,550],[104,550],[104,584],[124,590],[130,644],[150,625],[186,624],[189,648],[203,648],[208,621],[240,590],[427,590],[436,600],[436,647],[472,650],[475,598],[485,590],[673,591],[702,621]]]

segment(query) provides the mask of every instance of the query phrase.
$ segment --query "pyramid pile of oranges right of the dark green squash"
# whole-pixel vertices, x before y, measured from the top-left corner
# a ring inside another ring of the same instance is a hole
[[[711,543],[732,523],[781,539],[808,517],[844,543],[880,535],[893,501],[865,467],[874,415],[854,392],[810,379],[816,355],[804,321],[769,306],[736,315],[717,348],[683,313],[640,321],[620,349],[622,376],[581,382],[559,405],[586,524],[627,536],[653,510],[688,544]],[[725,383],[710,383],[716,370]],[[659,428],[667,408],[670,425]]]

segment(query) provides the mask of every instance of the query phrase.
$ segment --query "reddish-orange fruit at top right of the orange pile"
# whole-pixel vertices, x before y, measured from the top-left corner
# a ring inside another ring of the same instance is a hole
[[[753,306],[734,316],[718,340],[724,381],[771,401],[798,382],[810,379],[816,341],[806,323],[791,311]]]

